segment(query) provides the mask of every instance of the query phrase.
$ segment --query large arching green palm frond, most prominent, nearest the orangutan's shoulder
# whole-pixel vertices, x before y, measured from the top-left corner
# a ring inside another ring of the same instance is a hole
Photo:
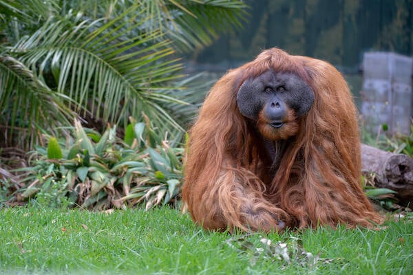
[[[129,115],[139,120],[143,111],[156,126],[182,131],[158,104],[183,104],[160,94],[162,85],[180,77],[176,72],[182,68],[177,59],[169,59],[174,53],[171,42],[159,30],[125,39],[147,20],[140,8],[135,5],[107,23],[50,19],[11,52],[28,67],[39,65],[39,77],[50,68],[56,90],[76,102],[75,111],[87,107],[96,118],[116,124],[126,123]]]

